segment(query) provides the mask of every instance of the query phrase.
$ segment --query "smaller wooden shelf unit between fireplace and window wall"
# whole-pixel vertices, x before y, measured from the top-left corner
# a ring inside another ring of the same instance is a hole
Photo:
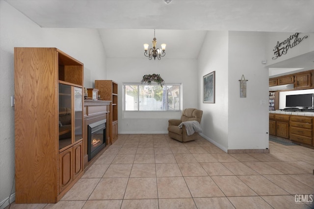
[[[103,100],[111,101],[109,123],[110,142],[113,143],[118,137],[118,84],[112,80],[95,80],[95,88]]]

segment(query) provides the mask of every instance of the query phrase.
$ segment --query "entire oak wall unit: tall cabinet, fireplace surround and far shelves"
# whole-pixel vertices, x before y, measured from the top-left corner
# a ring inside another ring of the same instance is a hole
[[[14,65],[15,202],[57,203],[117,138],[117,84],[84,100],[83,64],[57,48],[16,47]],[[99,122],[91,157],[88,126]]]

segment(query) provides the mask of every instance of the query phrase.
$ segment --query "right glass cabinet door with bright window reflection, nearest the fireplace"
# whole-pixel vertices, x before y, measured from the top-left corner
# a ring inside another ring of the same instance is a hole
[[[83,117],[83,91],[82,88],[74,87],[74,111],[75,111],[75,141],[82,139]]]

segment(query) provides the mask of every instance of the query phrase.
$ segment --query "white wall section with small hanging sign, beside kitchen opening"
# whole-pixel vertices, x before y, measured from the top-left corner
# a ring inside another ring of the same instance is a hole
[[[268,148],[268,69],[262,32],[229,32],[228,149]],[[240,98],[242,74],[246,98]]]

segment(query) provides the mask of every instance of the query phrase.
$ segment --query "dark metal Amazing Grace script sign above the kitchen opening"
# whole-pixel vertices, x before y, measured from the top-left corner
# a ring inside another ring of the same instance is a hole
[[[300,44],[303,39],[307,39],[308,36],[303,36],[302,38],[299,37],[300,33],[295,33],[291,36],[289,36],[286,40],[282,42],[277,42],[277,45],[274,47],[273,51],[275,56],[272,57],[273,60],[277,59],[283,54],[287,54],[287,51],[289,48],[293,48],[294,46],[297,46]]]

